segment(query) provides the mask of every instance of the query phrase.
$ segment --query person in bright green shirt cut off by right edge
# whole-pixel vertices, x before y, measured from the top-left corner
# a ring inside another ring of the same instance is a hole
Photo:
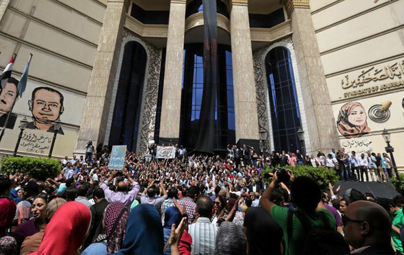
[[[392,199],[379,198],[377,203],[383,207],[390,216],[394,217],[391,223],[391,237],[396,251],[403,254],[403,246],[400,238],[400,230],[404,226],[403,209],[394,204]]]

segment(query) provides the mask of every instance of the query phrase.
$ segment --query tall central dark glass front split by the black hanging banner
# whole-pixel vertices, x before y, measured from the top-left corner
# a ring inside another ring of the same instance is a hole
[[[215,144],[224,150],[236,140],[231,49],[218,45],[218,85],[215,111]],[[203,44],[185,44],[181,94],[180,144],[193,149],[198,134],[203,94]]]

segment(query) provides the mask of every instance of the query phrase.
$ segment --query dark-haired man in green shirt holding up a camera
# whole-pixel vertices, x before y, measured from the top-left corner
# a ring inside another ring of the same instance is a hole
[[[295,213],[293,213],[292,236],[288,236],[288,207],[281,207],[269,201],[272,190],[276,186],[276,180],[277,176],[275,173],[271,184],[269,184],[261,196],[260,205],[282,228],[286,246],[285,254],[303,253],[304,238],[307,235],[307,230],[303,228],[302,223]],[[335,228],[335,218],[321,202],[321,190],[314,180],[305,176],[296,178],[292,182],[290,194],[293,205],[297,208],[296,212],[303,215],[313,228],[324,227],[324,223],[320,218],[320,211],[324,213],[328,225]]]

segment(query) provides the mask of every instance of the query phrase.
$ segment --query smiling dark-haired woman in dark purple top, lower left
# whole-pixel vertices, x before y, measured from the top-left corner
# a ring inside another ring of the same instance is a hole
[[[39,232],[46,224],[46,207],[48,205],[48,196],[44,193],[39,194],[34,198],[31,206],[31,213],[33,218],[23,224],[20,224],[12,236],[17,241],[18,252],[21,245],[27,236],[32,236]]]

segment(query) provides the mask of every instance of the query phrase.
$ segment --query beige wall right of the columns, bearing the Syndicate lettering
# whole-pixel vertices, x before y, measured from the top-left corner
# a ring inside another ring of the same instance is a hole
[[[310,7],[336,121],[352,102],[366,115],[367,134],[339,132],[341,146],[382,153],[386,128],[404,169],[404,0],[311,0]],[[388,111],[377,112],[386,101]]]

